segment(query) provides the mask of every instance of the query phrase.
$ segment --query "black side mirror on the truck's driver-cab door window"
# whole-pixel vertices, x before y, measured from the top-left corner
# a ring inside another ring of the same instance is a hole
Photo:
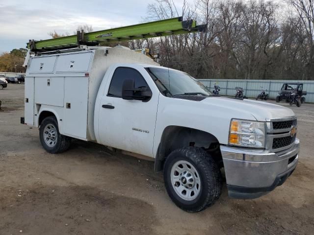
[[[126,79],[122,84],[122,98],[126,100],[143,100],[147,101],[152,97],[152,92],[147,87],[134,88],[134,80]]]

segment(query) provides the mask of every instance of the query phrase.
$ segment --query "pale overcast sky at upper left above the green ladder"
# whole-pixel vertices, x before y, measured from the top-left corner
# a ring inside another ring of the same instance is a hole
[[[180,7],[183,0],[175,0]],[[48,32],[73,34],[80,24],[94,30],[138,24],[154,0],[0,0],[0,53],[26,47]]]

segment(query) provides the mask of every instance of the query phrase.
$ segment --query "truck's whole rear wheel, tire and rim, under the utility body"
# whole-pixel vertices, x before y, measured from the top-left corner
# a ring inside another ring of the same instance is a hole
[[[71,138],[60,134],[58,122],[53,116],[45,118],[40,124],[39,137],[49,153],[62,153],[70,147]]]

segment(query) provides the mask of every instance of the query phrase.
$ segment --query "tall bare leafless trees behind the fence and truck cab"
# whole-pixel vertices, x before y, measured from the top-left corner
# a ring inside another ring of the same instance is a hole
[[[183,15],[207,24],[205,32],[136,40],[159,63],[196,78],[314,79],[313,0],[173,0],[149,4],[144,21]]]

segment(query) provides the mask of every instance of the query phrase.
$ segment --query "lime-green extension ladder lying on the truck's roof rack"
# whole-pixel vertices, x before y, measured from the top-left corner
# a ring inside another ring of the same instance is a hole
[[[183,21],[183,17],[176,17],[89,33],[78,31],[77,35],[41,41],[29,40],[27,48],[31,51],[50,51],[79,45],[97,46],[103,42],[120,42],[205,31],[206,26],[206,24],[196,25],[195,20]]]

